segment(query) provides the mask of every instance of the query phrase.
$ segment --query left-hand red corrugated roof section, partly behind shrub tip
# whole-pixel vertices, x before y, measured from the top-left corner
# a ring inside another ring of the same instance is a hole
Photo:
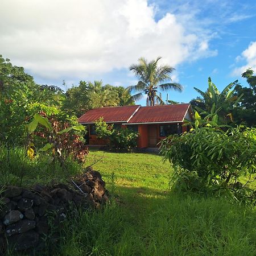
[[[103,117],[105,122],[127,122],[140,105],[91,109],[79,118],[80,123],[94,123]]]

